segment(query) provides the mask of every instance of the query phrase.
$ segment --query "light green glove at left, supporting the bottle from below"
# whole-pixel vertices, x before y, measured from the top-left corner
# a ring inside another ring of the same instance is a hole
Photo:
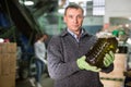
[[[87,70],[87,71],[93,71],[93,72],[99,72],[100,69],[97,69],[96,66],[90,65],[86,61],[85,61],[86,57],[83,55],[80,59],[78,59],[76,64],[81,70]]]

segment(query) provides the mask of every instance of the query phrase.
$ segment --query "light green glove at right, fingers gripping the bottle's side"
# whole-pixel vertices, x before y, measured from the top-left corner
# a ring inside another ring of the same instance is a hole
[[[104,65],[108,67],[115,60],[115,53],[112,51],[109,51],[109,53],[106,53],[104,58]]]

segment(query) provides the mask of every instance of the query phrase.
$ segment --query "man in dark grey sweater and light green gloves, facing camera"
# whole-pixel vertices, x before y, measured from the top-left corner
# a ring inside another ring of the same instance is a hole
[[[85,62],[85,53],[96,42],[96,37],[82,28],[83,9],[78,4],[66,8],[67,28],[50,39],[47,48],[48,71],[55,87],[103,87],[98,72],[114,70],[114,53],[105,55],[106,67],[97,69]]]

